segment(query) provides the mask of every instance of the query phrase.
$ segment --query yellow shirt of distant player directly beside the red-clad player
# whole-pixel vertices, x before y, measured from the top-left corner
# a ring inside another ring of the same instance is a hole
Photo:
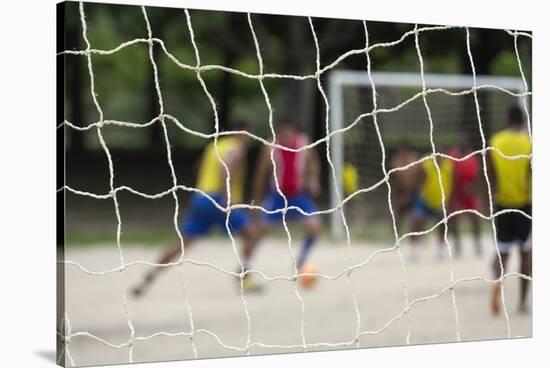
[[[441,171],[441,182],[443,183],[443,193],[445,194],[445,203],[448,203],[453,190],[453,162],[449,159],[443,159],[439,164]],[[439,177],[433,160],[424,161],[422,164],[426,178],[420,189],[420,196],[424,203],[431,209],[441,210],[441,187],[439,186]]]

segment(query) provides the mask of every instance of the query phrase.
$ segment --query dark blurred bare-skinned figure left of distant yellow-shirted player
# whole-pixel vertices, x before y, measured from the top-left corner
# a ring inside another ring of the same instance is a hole
[[[418,153],[407,142],[403,142],[397,148],[392,157],[391,168],[407,166],[418,160]],[[404,217],[411,211],[419,180],[422,177],[422,167],[414,165],[406,170],[395,171],[391,174],[391,188],[393,194],[393,208],[395,225],[399,232]]]

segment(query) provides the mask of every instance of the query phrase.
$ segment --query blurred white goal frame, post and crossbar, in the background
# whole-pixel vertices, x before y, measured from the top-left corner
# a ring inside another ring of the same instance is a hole
[[[422,79],[420,73],[401,73],[401,72],[371,72],[372,81],[374,82],[374,85],[376,87],[377,91],[377,100],[384,102],[386,100],[386,105],[378,106],[378,108],[395,108],[398,105],[402,104],[403,102],[407,101],[408,98],[412,97],[413,94],[410,91],[415,91],[414,93],[418,93],[422,91]],[[473,87],[474,81],[472,75],[462,75],[462,74],[424,74],[424,81],[426,89],[445,89],[452,92],[459,92],[459,91],[467,91],[470,90]],[[527,96],[523,97],[515,97],[511,96],[510,94],[507,94],[506,92],[499,90],[498,88],[505,89],[510,92],[515,93],[523,93],[525,90],[525,86],[523,84],[523,81],[519,77],[509,77],[509,76],[482,76],[478,75],[476,76],[476,85],[477,86],[492,86],[497,88],[487,88],[483,89],[484,91],[487,91],[487,93],[490,93],[491,96],[488,99],[489,102],[487,103],[489,108],[487,110],[496,111],[498,112],[496,115],[496,118],[499,119],[499,121],[502,121],[504,116],[503,112],[505,112],[510,104],[510,101],[513,101],[514,99],[517,100],[518,103],[521,103],[521,106],[523,106],[523,99],[527,99]],[[405,91],[405,92],[402,92]],[[408,92],[408,94],[407,94]],[[440,95],[441,93],[434,93],[431,96]],[[472,95],[471,93],[469,94]],[[467,95],[466,95],[467,96]],[[508,104],[506,104],[506,99],[508,99]],[[420,102],[420,99],[416,99],[416,102]],[[350,123],[352,123],[358,116],[361,114],[369,113],[372,111],[372,89],[371,89],[371,81],[369,78],[369,75],[367,71],[359,71],[359,70],[334,70],[329,74],[329,102],[330,102],[330,129],[331,132],[335,130],[339,130],[342,128],[347,127]],[[528,101],[527,101],[528,102]],[[445,106],[441,106],[441,109],[449,108],[449,105],[447,102],[442,103]],[[456,119],[458,121],[459,114],[464,114],[463,112],[460,112],[460,108],[457,108],[457,104],[459,102],[454,102],[454,107],[452,110],[449,110],[448,112],[443,111],[442,114],[445,115],[445,121],[447,124],[454,124],[452,126],[452,131],[454,129],[455,133],[460,133],[460,129],[463,129],[463,127],[459,126],[458,122],[452,122],[453,119],[449,119],[447,116],[449,114],[455,113],[457,115]],[[528,104],[527,104],[528,106]],[[430,105],[432,107],[432,105]],[[437,109],[438,106],[433,106],[435,109],[435,114],[437,115]],[[451,112],[452,111],[452,112]],[[382,114],[380,116],[386,115],[392,115],[395,114],[395,112],[391,112],[388,114]],[[475,110],[472,111],[472,113],[475,113]],[[420,113],[419,113],[420,115]],[[393,120],[402,119],[403,116],[396,116],[393,118]],[[483,112],[482,112],[482,122],[483,122]],[[384,117],[380,124],[382,130],[384,129],[383,124],[394,124],[393,122],[390,122],[392,118]],[[409,123],[412,121],[414,122],[415,119],[418,121],[427,121],[425,116],[418,116],[413,119],[410,118],[410,115],[406,117],[406,119],[409,121]],[[436,118],[437,120],[437,118]],[[449,122],[451,121],[451,122]],[[503,124],[504,122],[502,122]],[[366,121],[359,122],[359,125],[362,124],[368,124]],[[396,123],[397,124],[397,123]],[[437,124],[437,121],[435,122]],[[414,124],[412,124],[414,125]],[[498,124],[494,124],[498,125]],[[394,127],[394,129],[398,129],[399,126],[401,128],[403,125],[398,125]],[[355,129],[355,127],[354,127]],[[387,133],[387,132],[386,132]],[[351,133],[355,137],[355,139],[361,139],[360,134],[358,135],[356,132]],[[382,132],[384,137],[384,132]],[[400,134],[407,134],[407,132],[403,131],[401,129]],[[346,132],[340,132],[337,134],[333,134],[330,137],[330,154],[331,159],[334,164],[335,174],[336,178],[338,178],[336,185],[332,183],[332,180],[330,180],[330,207],[331,208],[337,208],[342,199],[345,197],[344,194],[344,187],[343,187],[343,181],[342,181],[342,174],[343,174],[343,168],[346,160],[350,159],[352,164],[356,165],[366,165],[374,172],[374,170],[377,170],[381,173],[380,169],[380,160],[378,158],[373,159],[366,156],[368,155],[368,152],[361,152],[361,154],[356,155],[357,157],[349,157],[350,154],[346,155],[346,136],[350,135],[350,131]],[[363,137],[366,138],[366,137]],[[428,137],[429,138],[429,137]],[[378,141],[375,139],[375,137],[369,137],[371,140],[371,143],[376,144],[378,146]],[[366,140],[364,141],[366,143]],[[356,146],[360,146],[360,144],[356,144]],[[371,152],[372,153],[372,152]],[[348,156],[348,157],[346,157]],[[353,153],[351,154],[353,156]],[[363,167],[363,170],[358,170],[360,176],[364,174],[366,171],[369,170],[369,168]],[[332,178],[332,177],[331,177]],[[364,183],[360,180],[359,187],[365,187],[363,185]],[[338,198],[338,193],[340,195],[340,199]],[[384,202],[386,203],[386,202]],[[384,205],[384,203],[379,202],[379,205]],[[387,204],[385,204],[385,207],[387,207]],[[344,237],[344,225],[342,222],[341,215],[339,211],[333,211],[331,213],[331,219],[330,219],[330,226],[331,226],[331,235],[334,239],[342,239]]]

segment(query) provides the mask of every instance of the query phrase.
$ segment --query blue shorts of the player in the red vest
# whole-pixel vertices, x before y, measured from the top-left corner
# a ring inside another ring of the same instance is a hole
[[[312,213],[317,211],[317,206],[306,192],[298,193],[294,196],[287,196],[288,207],[298,207],[306,213]],[[268,211],[276,211],[285,208],[285,201],[283,197],[276,191],[271,191],[263,203],[263,207]],[[306,216],[300,213],[296,209],[290,209],[286,213],[286,218],[289,220],[297,220],[304,218],[317,218],[317,216]],[[283,220],[283,213],[264,213],[263,219],[269,222],[277,222]]]

